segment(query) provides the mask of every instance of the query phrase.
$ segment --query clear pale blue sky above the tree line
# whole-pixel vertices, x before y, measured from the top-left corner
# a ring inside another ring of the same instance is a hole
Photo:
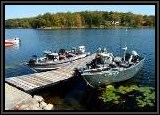
[[[35,17],[46,12],[117,11],[155,15],[154,5],[5,5],[5,20]]]

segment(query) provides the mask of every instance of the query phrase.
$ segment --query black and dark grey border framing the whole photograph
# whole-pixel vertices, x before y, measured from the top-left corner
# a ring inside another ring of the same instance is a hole
[[[57,110],[5,110],[5,5],[155,5],[155,96],[154,112],[101,112],[101,111],[57,111]],[[1,1],[1,114],[159,114],[159,1]],[[156,65],[157,64],[157,65]]]

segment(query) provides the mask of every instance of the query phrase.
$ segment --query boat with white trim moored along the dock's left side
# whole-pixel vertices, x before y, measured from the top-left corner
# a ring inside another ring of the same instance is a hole
[[[78,49],[73,48],[70,51],[60,49],[58,53],[46,50],[44,54],[43,57],[39,58],[34,55],[27,65],[38,71],[54,70],[90,55],[90,53],[85,52],[85,46],[79,46]]]

